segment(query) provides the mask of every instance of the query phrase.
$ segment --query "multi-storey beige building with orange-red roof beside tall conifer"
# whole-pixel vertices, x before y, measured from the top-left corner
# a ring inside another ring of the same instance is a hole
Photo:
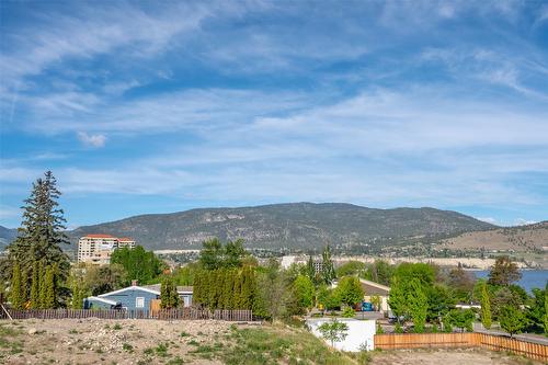
[[[135,248],[135,240],[111,235],[88,235],[78,240],[78,262],[89,262],[96,265],[109,264],[116,249]]]

